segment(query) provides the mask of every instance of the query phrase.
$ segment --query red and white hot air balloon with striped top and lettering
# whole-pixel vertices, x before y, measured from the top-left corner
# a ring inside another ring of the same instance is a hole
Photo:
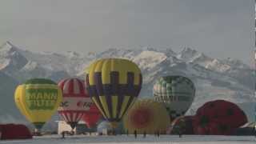
[[[74,129],[82,115],[87,110],[90,110],[93,102],[86,95],[84,81],[78,78],[63,79],[61,82],[58,82],[58,86],[63,94],[62,103],[58,107],[58,114]]]

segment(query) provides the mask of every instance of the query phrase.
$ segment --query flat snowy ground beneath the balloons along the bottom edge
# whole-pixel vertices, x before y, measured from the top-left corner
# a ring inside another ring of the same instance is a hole
[[[118,136],[86,136],[86,135],[75,135],[69,136],[64,139],[61,138],[60,135],[51,135],[51,136],[42,136],[42,137],[34,137],[29,140],[8,140],[8,141],[0,141],[0,143],[15,143],[15,144],[30,144],[30,143],[47,143],[47,144],[88,144],[88,143],[169,143],[169,144],[195,144],[195,143],[206,143],[206,144],[236,144],[236,143],[256,143],[256,137],[248,136],[192,136],[192,135],[184,135],[182,138],[178,138],[175,135],[161,135],[160,138],[155,137],[154,135],[147,135],[146,138],[143,138],[142,135],[138,135],[138,138],[134,138],[133,135],[118,135]]]

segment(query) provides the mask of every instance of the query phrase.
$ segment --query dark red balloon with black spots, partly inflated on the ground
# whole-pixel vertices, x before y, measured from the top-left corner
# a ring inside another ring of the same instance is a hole
[[[237,105],[216,100],[206,102],[197,110],[193,126],[195,134],[229,135],[246,122],[246,114]]]

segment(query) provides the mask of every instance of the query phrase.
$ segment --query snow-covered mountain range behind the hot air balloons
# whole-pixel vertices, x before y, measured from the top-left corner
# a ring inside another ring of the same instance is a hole
[[[51,78],[58,82],[70,76],[84,77],[86,66],[98,58],[127,58],[136,62],[143,75],[141,97],[152,97],[152,87],[160,76],[179,74],[190,78],[195,83],[197,94],[188,113],[214,99],[226,99],[243,105],[255,102],[254,70],[250,66],[232,58],[210,58],[188,47],[178,53],[171,49],[148,47],[136,50],[109,49],[97,54],[72,51],[35,53],[6,42],[0,47],[0,72],[17,83],[35,77]],[[2,86],[4,81],[0,78]],[[10,92],[8,96],[13,97],[13,94]],[[249,109],[246,113],[253,118],[253,111]]]

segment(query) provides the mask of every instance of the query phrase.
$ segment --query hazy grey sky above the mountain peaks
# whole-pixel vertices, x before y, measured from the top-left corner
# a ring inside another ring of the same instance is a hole
[[[33,51],[189,46],[250,62],[254,0],[1,0],[0,42]]]

